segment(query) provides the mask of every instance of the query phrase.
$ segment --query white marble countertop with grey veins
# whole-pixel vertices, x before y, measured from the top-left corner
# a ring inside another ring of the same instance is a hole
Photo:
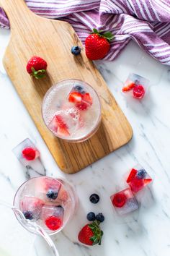
[[[9,31],[0,30],[0,200],[12,203],[17,187],[24,182],[24,168],[15,158],[12,148],[30,137],[40,149],[47,174],[66,177],[79,195],[79,208],[73,220],[53,238],[60,256],[169,256],[170,67],[159,64],[133,42],[115,61],[97,62],[109,89],[133,127],[133,139],[78,174],[66,175],[53,161],[2,66],[8,41]],[[148,95],[141,102],[127,102],[120,91],[129,72],[151,80]],[[142,203],[137,214],[132,214],[125,221],[115,216],[109,196],[116,189],[125,187],[123,176],[135,163],[143,165],[154,181],[151,189],[140,195]],[[89,202],[89,195],[93,192],[101,198],[97,205]],[[78,243],[77,234],[86,223],[86,213],[91,210],[104,214],[104,236],[101,246],[84,247]],[[0,218],[4,218],[3,210]],[[0,248],[8,252],[4,239],[1,234]],[[11,244],[19,247],[13,240]],[[34,253],[27,256],[42,255],[40,247],[37,247],[35,240]],[[4,253],[0,255],[4,256]]]

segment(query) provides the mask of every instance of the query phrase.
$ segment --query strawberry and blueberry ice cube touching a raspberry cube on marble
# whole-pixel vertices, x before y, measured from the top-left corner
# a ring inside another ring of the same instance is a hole
[[[145,168],[138,165],[130,170],[128,178],[126,180],[130,188],[134,193],[143,189],[152,182],[151,176],[147,173]]]

